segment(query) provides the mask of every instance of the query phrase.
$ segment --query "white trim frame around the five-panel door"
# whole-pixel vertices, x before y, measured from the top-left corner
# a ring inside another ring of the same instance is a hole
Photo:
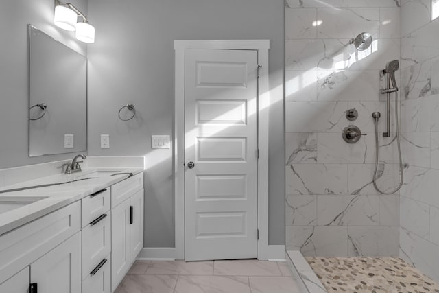
[[[268,82],[268,50],[270,40],[174,40],[175,104],[174,104],[174,200],[175,200],[175,258],[185,259],[185,50],[241,49],[258,52],[261,65],[258,82],[258,259],[267,260],[268,245],[268,111],[270,86]]]

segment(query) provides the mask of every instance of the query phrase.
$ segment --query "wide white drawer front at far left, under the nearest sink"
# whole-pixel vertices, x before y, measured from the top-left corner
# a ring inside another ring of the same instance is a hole
[[[81,204],[74,202],[0,236],[0,283],[80,231]]]

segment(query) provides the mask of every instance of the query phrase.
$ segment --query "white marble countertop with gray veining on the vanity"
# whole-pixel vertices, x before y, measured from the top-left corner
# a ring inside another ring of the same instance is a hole
[[[2,204],[18,204],[19,207],[3,213],[0,211],[0,235],[65,207],[96,191],[114,185],[128,178],[129,173],[136,175],[141,172],[143,172],[141,168],[91,168],[83,169],[82,172],[75,174],[58,174],[1,187],[0,207]],[[112,176],[117,173],[125,174]],[[78,180],[84,178],[87,179]],[[1,191],[9,189],[53,183],[64,184],[1,193]]]

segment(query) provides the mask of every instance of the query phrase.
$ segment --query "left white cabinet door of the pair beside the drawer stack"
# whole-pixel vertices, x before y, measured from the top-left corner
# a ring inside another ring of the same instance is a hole
[[[130,268],[130,198],[111,210],[111,288]]]

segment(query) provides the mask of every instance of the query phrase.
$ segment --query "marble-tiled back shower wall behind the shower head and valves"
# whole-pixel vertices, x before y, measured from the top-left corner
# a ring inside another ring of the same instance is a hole
[[[400,56],[401,3],[287,0],[285,5],[287,249],[305,256],[399,255],[399,195],[380,195],[372,185],[371,115],[385,113],[379,70]],[[366,51],[348,45],[361,32],[374,38]],[[357,121],[346,119],[349,108],[358,110]],[[368,135],[355,144],[344,142],[342,129],[349,124]],[[384,119],[379,131],[385,131]],[[396,143],[379,137],[378,185],[388,190],[399,183]],[[407,139],[403,152],[416,153],[416,134]]]

